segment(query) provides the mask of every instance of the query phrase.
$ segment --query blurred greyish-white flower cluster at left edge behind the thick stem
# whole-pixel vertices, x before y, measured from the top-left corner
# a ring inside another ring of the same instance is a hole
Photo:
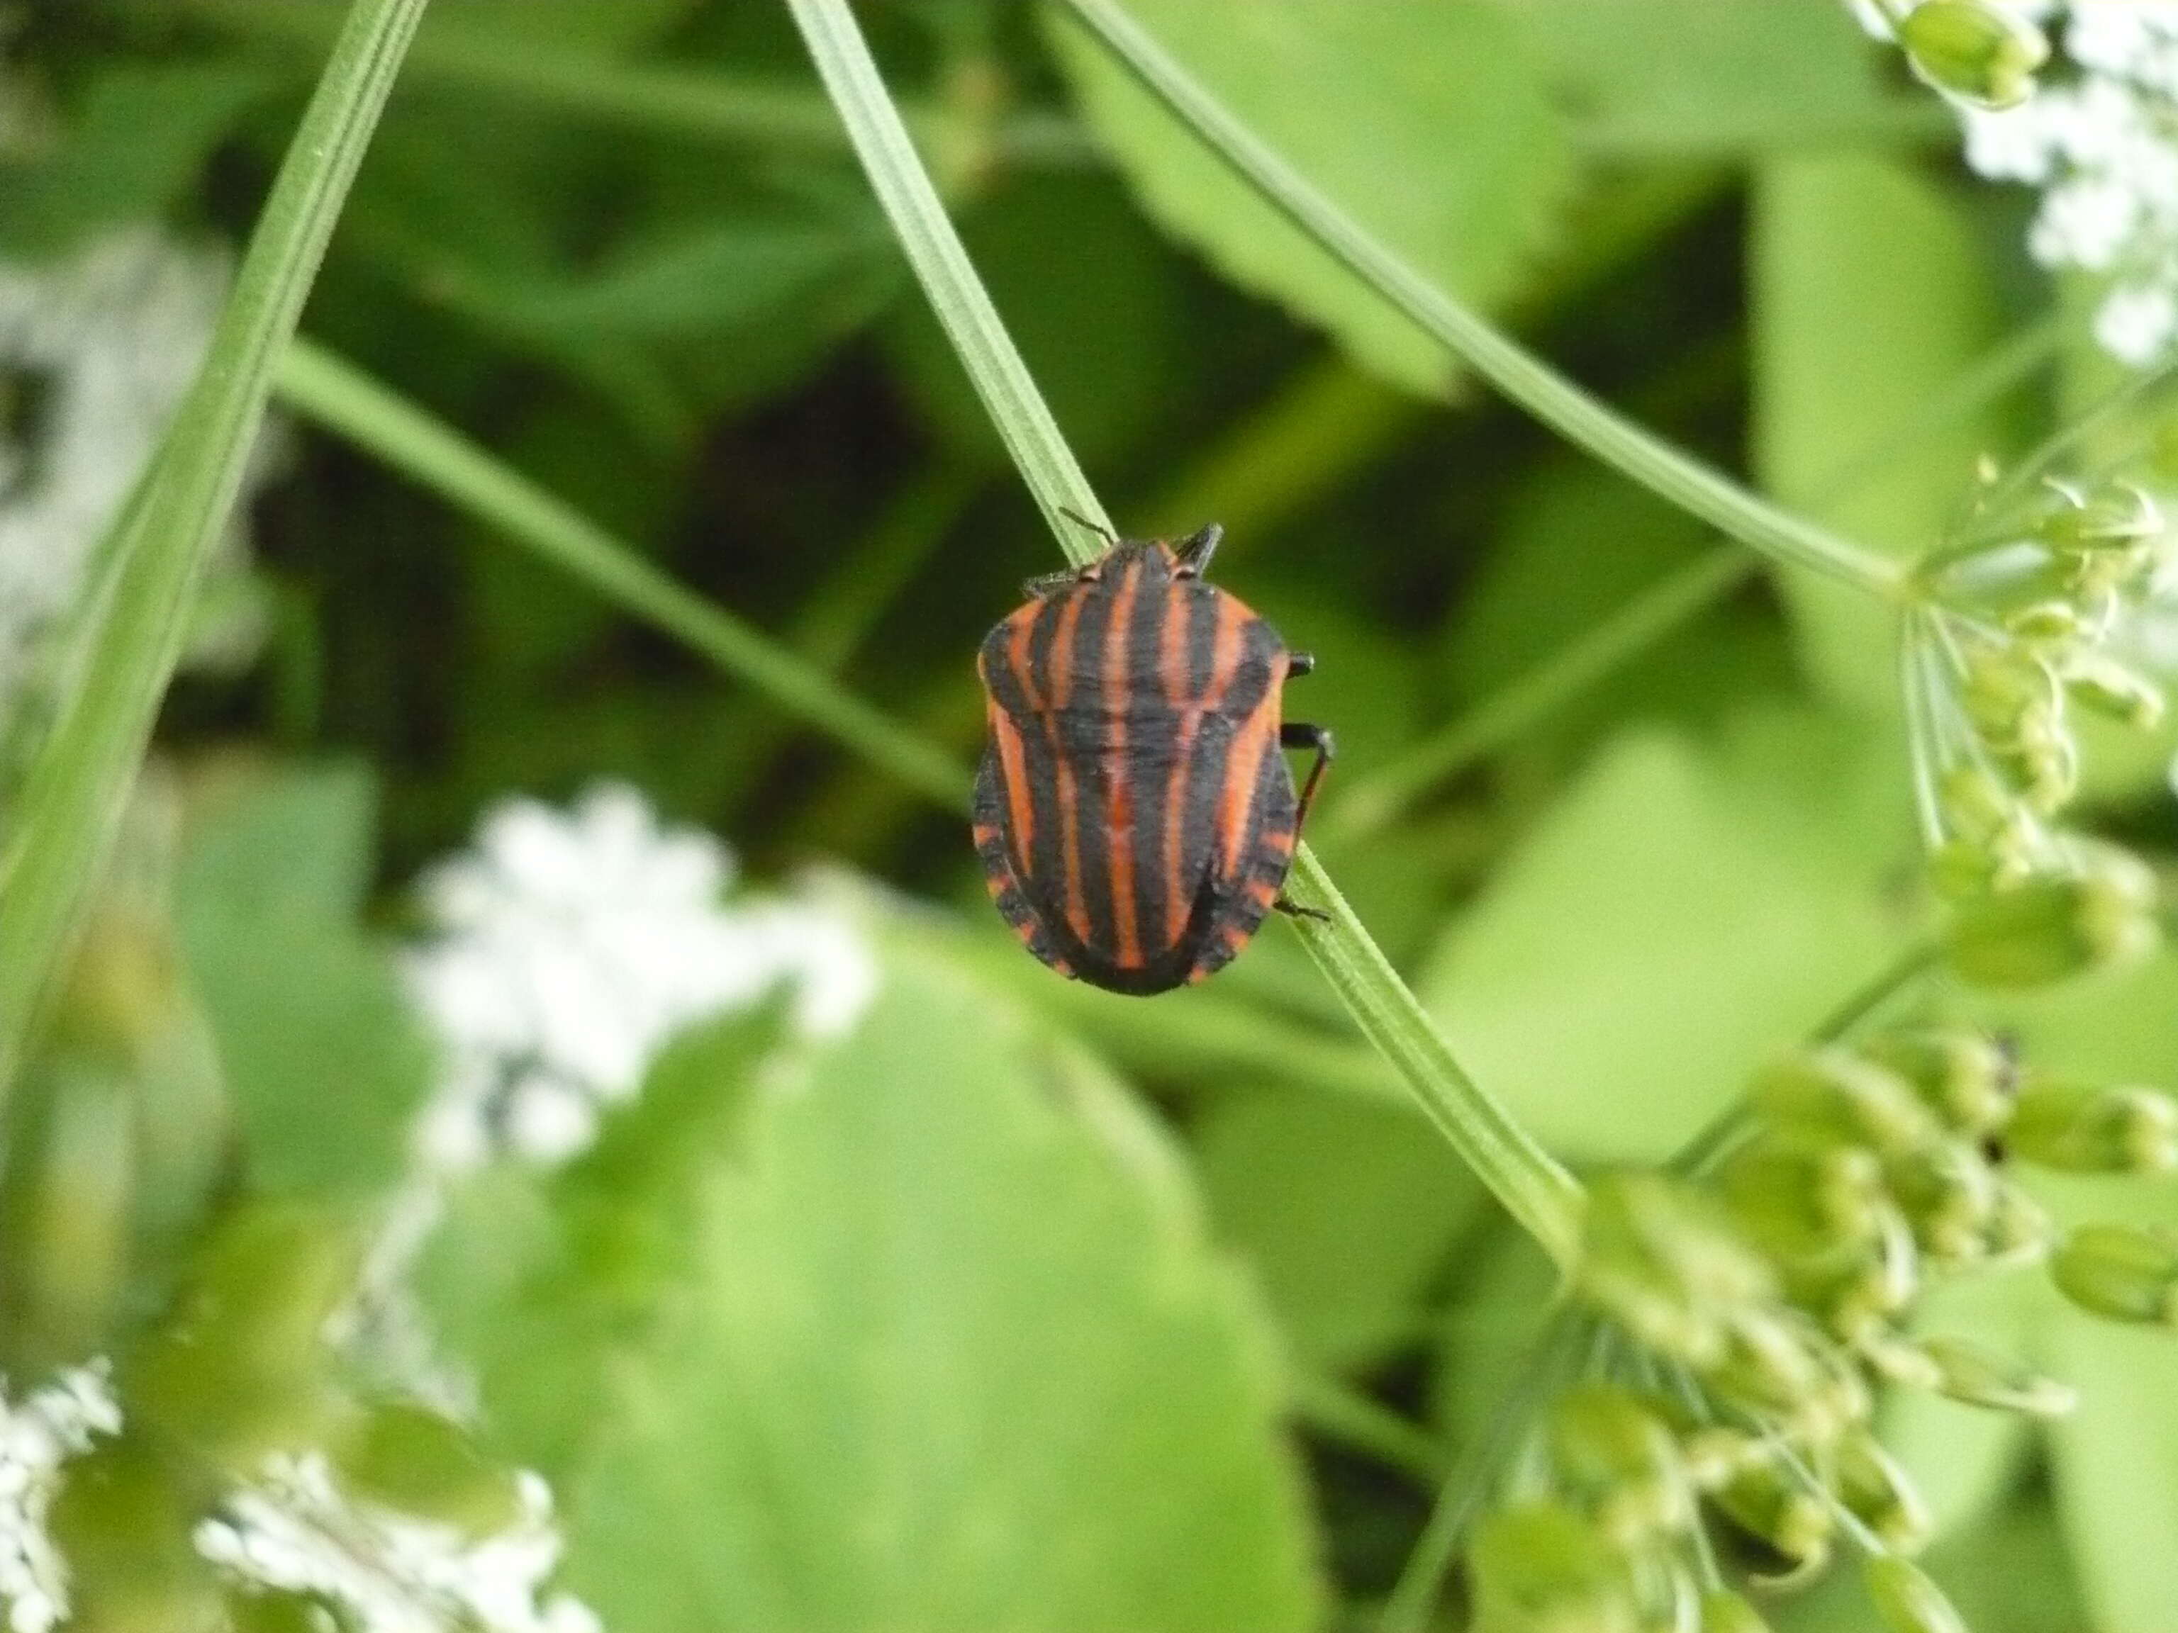
[[[0,716],[196,379],[227,281],[222,253],[152,229],[0,261]]]

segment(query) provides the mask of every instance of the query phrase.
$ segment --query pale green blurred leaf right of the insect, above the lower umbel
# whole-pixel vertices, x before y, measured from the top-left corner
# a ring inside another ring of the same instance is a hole
[[[1810,712],[1712,751],[1627,734],[1453,928],[1422,1002],[1553,1147],[1662,1158],[1897,954],[1899,784]]]

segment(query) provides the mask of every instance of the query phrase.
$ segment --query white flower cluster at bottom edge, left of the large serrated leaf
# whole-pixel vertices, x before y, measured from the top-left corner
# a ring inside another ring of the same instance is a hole
[[[196,1526],[196,1550],[244,1587],[320,1600],[355,1633],[597,1633],[579,1598],[538,1598],[560,1563],[551,1489],[488,1537],[351,1498],[318,1452],[281,1454]]]

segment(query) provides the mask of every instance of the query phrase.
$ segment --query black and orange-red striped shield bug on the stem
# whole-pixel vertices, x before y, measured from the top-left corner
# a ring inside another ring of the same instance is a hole
[[[976,655],[991,897],[1028,951],[1115,993],[1198,982],[1272,908],[1311,912],[1281,891],[1333,742],[1281,708],[1313,660],[1204,581],[1222,536],[1104,533],[1089,566],[1030,579]],[[1283,749],[1316,751],[1298,795]]]

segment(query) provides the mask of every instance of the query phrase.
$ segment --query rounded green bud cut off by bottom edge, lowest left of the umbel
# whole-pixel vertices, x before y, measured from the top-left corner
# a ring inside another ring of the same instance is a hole
[[[1570,1509],[1498,1509],[1468,1546],[1475,1626],[1490,1633],[1640,1633],[1620,1555]]]

